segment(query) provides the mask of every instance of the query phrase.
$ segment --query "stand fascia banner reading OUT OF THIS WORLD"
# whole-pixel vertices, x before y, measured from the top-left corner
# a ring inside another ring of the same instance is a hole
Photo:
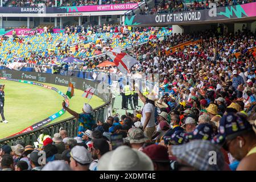
[[[149,26],[206,22],[211,20],[238,19],[256,16],[256,2],[244,5],[214,7],[212,9],[183,11],[150,15],[132,15],[125,17],[126,26]]]

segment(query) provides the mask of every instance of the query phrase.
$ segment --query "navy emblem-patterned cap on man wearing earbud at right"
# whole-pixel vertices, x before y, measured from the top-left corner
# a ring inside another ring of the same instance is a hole
[[[218,135],[216,135],[212,142],[216,144],[223,144],[223,148],[228,150],[226,141],[236,138],[238,135],[246,133],[253,129],[253,126],[245,118],[228,113],[220,119],[220,126],[218,127]]]

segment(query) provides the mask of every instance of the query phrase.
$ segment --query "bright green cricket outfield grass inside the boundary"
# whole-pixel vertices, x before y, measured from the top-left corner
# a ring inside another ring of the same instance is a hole
[[[46,89],[42,86],[24,84],[15,81],[0,80],[0,84],[5,84],[5,118],[9,123],[0,123],[0,139],[9,137],[11,134],[18,133],[32,124],[42,121],[50,115],[61,110],[63,97],[54,90]],[[44,84],[44,83],[42,83]],[[66,86],[46,84],[59,89],[64,94],[67,92]],[[82,106],[88,100],[82,98],[82,90],[75,89],[75,96],[69,99],[70,108],[82,112]],[[93,108],[102,104],[99,97],[93,96],[89,102]],[[51,123],[61,121],[71,117],[71,114],[65,113],[60,118]],[[2,120],[2,118],[0,117]]]

